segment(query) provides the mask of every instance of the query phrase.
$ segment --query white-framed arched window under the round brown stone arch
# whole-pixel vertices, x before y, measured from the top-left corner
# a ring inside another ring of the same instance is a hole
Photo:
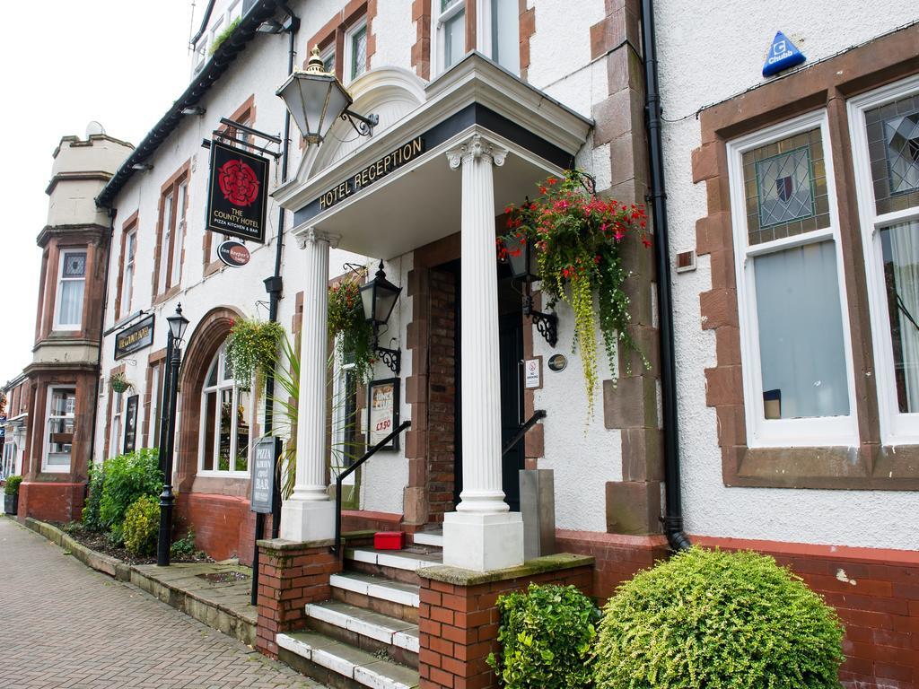
[[[248,474],[250,391],[233,379],[225,348],[211,360],[201,390],[199,472]]]

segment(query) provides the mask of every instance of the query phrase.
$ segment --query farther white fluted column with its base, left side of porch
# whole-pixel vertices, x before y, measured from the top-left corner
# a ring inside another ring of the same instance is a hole
[[[290,498],[281,505],[280,536],[291,541],[335,537],[335,502],[325,483],[325,365],[328,356],[329,244],[332,237],[309,228],[297,238],[303,250],[303,322],[297,472]]]

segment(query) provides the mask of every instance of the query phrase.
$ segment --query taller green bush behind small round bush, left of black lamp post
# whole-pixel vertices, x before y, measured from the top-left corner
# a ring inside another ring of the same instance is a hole
[[[115,537],[120,537],[128,508],[142,495],[155,497],[163,490],[163,473],[158,452],[144,448],[106,462],[99,519]]]

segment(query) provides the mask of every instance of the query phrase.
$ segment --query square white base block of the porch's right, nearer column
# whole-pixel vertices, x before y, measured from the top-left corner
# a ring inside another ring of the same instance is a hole
[[[523,517],[519,512],[444,514],[444,564],[476,571],[523,564]]]

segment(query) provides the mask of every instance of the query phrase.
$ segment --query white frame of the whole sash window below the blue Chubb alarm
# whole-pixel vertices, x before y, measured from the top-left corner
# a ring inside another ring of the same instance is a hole
[[[819,127],[826,169],[830,226],[793,237],[748,245],[746,202],[743,180],[743,153],[759,146],[786,139],[803,131]],[[741,361],[743,366],[743,398],[746,416],[747,446],[857,446],[858,407],[855,395],[855,374],[852,364],[852,337],[849,332],[848,299],[845,292],[845,272],[839,236],[839,212],[836,199],[833,155],[829,124],[825,110],[802,115],[773,127],[729,141],[727,144],[728,175],[731,186],[731,216],[734,243],[734,272],[737,279],[737,308],[740,318]],[[763,374],[759,351],[759,330],[756,322],[756,297],[753,259],[783,249],[826,241],[834,242],[836,277],[839,283],[839,304],[843,326],[845,378],[848,384],[849,413],[847,416],[824,416],[801,419],[766,419],[763,402]],[[749,269],[748,269],[749,266]]]

